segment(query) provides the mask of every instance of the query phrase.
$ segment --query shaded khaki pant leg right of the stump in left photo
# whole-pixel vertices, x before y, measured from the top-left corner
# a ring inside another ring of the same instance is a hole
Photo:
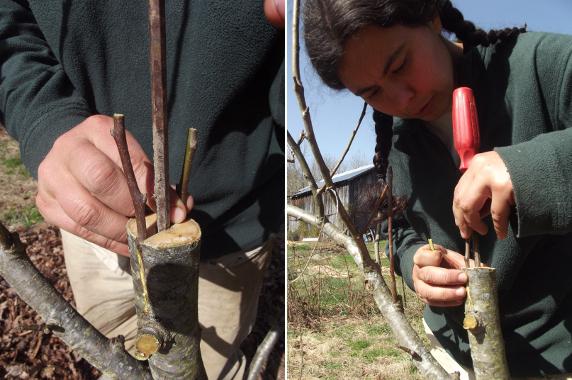
[[[199,322],[201,355],[209,379],[242,379],[246,370],[240,345],[256,321],[264,272],[274,241],[249,252],[201,264]]]

